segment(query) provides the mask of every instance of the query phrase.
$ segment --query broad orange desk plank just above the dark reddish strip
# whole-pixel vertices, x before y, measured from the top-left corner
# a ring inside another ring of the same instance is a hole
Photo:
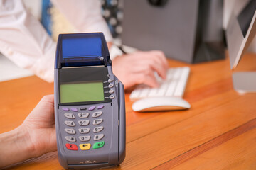
[[[256,108],[247,107],[256,104],[252,99],[238,98],[129,142],[122,169],[152,169],[256,118]],[[159,124],[151,122],[152,127]]]

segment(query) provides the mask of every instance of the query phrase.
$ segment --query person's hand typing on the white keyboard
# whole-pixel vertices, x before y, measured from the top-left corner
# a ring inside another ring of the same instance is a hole
[[[113,72],[124,84],[124,89],[137,84],[158,87],[154,72],[159,74],[161,79],[166,79],[168,70],[168,62],[161,51],[137,51],[116,57],[112,63]]]

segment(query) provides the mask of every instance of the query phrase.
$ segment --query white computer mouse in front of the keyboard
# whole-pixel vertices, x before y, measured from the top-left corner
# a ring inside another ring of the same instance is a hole
[[[132,104],[133,111],[171,111],[191,108],[191,105],[182,98],[151,97],[142,98]]]

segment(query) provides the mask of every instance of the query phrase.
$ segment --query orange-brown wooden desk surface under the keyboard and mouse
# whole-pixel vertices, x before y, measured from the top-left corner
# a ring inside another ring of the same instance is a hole
[[[127,155],[110,169],[256,169],[256,94],[233,90],[229,60],[193,65],[170,60],[169,66],[191,67],[183,96],[191,109],[136,113],[127,92]],[[2,133],[53,94],[53,84],[32,76],[1,82],[0,91]],[[62,167],[53,152],[11,169]]]

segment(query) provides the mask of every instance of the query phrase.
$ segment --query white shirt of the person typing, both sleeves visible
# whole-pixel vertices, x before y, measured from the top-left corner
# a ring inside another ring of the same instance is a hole
[[[103,32],[112,41],[97,0],[52,0],[63,16],[82,33]],[[56,43],[21,0],[0,0],[0,51],[19,67],[53,81]]]

